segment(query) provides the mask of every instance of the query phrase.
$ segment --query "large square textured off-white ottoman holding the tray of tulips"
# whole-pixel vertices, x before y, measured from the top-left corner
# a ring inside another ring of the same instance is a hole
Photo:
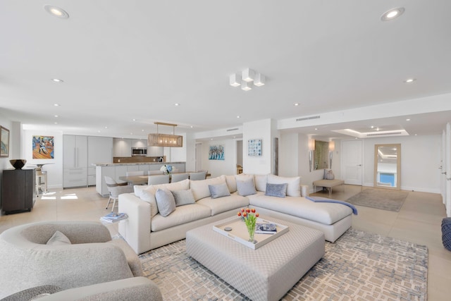
[[[188,231],[187,254],[251,300],[280,300],[323,257],[324,234],[270,220],[289,231],[257,250],[213,231],[220,221]]]

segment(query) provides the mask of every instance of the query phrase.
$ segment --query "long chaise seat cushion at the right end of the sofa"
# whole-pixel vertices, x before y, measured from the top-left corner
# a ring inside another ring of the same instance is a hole
[[[345,205],[315,203],[305,197],[269,197],[262,192],[257,193],[257,195],[249,195],[248,197],[249,204],[252,206],[290,214],[325,225],[332,225],[352,214],[352,209]]]

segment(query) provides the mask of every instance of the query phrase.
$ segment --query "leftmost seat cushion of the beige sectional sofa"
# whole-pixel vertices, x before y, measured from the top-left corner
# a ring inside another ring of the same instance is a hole
[[[197,221],[211,216],[211,209],[202,204],[187,204],[175,208],[168,216],[156,214],[152,217],[151,230],[161,231],[190,221]]]

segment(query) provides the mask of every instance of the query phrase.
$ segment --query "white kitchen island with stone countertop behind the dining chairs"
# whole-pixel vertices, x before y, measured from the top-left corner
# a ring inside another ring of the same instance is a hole
[[[105,183],[105,176],[109,176],[121,183],[119,177],[126,176],[127,171],[159,171],[163,165],[171,165],[180,173],[185,172],[185,162],[136,162],[136,163],[97,163],[96,166],[96,190],[99,195],[108,197],[109,192]]]

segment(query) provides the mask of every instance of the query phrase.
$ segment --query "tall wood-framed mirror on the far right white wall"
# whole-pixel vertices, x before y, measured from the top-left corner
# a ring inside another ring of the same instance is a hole
[[[374,187],[401,189],[401,145],[374,145]]]

